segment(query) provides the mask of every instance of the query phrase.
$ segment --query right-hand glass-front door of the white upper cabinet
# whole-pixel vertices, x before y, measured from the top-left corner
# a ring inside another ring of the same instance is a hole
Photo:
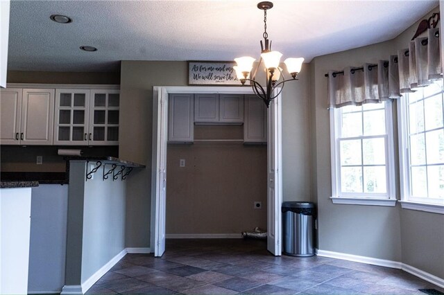
[[[89,145],[119,145],[119,100],[119,90],[91,90]]]

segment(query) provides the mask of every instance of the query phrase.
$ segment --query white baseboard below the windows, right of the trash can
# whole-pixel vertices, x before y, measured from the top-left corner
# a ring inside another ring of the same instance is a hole
[[[427,280],[438,287],[444,288],[444,278],[439,278],[438,276],[434,276],[433,274],[429,274],[426,271],[422,271],[421,269],[417,269],[416,267],[412,267],[410,265],[406,265],[405,263],[393,261],[393,260],[384,260],[379,258],[371,258],[367,256],[358,256],[347,253],[339,253],[334,251],[325,251],[316,249],[316,255],[322,257],[336,258],[349,260],[354,262],[366,263],[368,265],[378,265],[380,267],[391,267],[393,269],[402,269],[403,271],[407,271],[409,274],[413,274],[413,276],[417,276],[418,278],[422,278],[422,280]]]

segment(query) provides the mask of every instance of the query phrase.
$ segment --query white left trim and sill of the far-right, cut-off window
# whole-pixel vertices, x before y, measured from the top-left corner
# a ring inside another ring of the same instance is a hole
[[[409,200],[410,184],[409,184],[409,141],[407,134],[407,98],[398,100],[398,143],[400,154],[400,204],[401,208],[417,211],[425,211],[430,213],[444,214],[444,205],[429,204]]]

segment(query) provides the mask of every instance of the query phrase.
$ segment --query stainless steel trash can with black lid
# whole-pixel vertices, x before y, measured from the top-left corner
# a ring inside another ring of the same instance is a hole
[[[314,256],[313,228],[316,208],[312,202],[282,203],[284,254]]]

